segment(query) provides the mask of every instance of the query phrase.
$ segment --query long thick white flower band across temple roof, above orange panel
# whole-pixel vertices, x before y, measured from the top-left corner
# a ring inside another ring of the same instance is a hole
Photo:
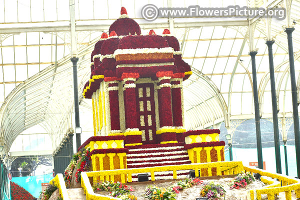
[[[116,49],[114,55],[119,54],[136,54],[136,53],[173,53],[174,49],[172,47],[163,48],[124,48]]]

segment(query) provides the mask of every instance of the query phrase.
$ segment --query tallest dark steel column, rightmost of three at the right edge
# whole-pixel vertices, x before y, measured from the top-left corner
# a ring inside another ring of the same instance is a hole
[[[294,28],[285,28],[287,34],[288,57],[289,57],[289,73],[291,84],[291,99],[292,99],[292,115],[294,124],[295,148],[296,148],[296,163],[297,163],[297,177],[300,177],[300,131],[299,131],[299,114],[298,114],[298,101],[297,101],[297,88],[295,78],[295,66],[293,59],[292,47],[292,31]],[[286,146],[284,145],[286,148]]]

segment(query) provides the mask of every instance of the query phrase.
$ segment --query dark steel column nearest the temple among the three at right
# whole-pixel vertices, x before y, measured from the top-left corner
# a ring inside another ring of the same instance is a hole
[[[249,52],[249,55],[251,56],[251,64],[252,64],[253,99],[254,99],[254,111],[255,111],[258,168],[263,169],[261,135],[260,135],[259,103],[258,103],[257,80],[256,80],[256,63],[255,63],[255,55],[256,54],[257,54],[257,51]]]

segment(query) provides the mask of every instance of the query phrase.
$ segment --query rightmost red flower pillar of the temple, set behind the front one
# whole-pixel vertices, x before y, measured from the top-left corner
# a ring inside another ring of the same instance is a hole
[[[184,75],[184,74],[183,74]],[[183,122],[182,122],[182,102],[181,102],[181,90],[182,78],[172,78],[171,79],[171,96],[172,96],[172,116],[173,116],[173,126],[177,129],[176,138],[178,142],[183,142],[184,137],[182,136]]]

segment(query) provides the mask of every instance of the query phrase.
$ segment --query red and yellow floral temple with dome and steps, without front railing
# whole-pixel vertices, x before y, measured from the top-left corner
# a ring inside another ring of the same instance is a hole
[[[218,129],[184,129],[182,81],[192,72],[181,54],[168,29],[162,35],[153,30],[141,35],[124,7],[109,33],[102,33],[83,88],[83,96],[92,100],[94,136],[80,148],[90,148],[93,171],[224,161]],[[172,179],[172,172],[153,175]],[[216,175],[216,168],[200,173]],[[188,174],[179,170],[176,177]],[[126,182],[126,176],[110,180]]]

